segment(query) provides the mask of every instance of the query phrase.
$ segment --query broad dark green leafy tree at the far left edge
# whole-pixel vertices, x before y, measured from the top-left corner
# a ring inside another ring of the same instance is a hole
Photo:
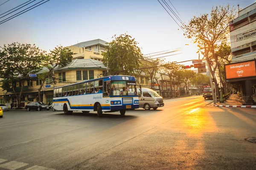
[[[29,74],[41,68],[43,52],[31,44],[13,42],[0,48],[0,76],[12,80],[12,90],[17,97],[17,108],[20,108],[20,99],[25,80]],[[15,81],[20,82],[20,89],[16,91]]]

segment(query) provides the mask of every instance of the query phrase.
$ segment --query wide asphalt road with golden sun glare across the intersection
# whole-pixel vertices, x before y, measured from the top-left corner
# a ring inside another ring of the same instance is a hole
[[[256,169],[256,109],[217,108],[202,96],[157,111],[64,115],[4,112],[0,170]]]

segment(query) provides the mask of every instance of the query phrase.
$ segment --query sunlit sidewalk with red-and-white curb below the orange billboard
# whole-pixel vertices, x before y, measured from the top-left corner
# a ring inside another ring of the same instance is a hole
[[[242,105],[237,94],[231,94],[224,103],[216,102],[216,105],[213,106],[226,108],[256,108],[256,105]]]

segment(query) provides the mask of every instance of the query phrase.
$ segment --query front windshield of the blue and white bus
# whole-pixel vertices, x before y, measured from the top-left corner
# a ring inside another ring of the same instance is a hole
[[[136,83],[126,81],[111,81],[111,96],[137,95]]]

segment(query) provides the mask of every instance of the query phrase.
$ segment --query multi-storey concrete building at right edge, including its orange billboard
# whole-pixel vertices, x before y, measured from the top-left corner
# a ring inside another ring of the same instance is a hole
[[[256,3],[239,11],[230,21],[232,64],[225,65],[225,76],[242,98],[253,103],[256,96]],[[248,100],[250,98],[250,100]]]

